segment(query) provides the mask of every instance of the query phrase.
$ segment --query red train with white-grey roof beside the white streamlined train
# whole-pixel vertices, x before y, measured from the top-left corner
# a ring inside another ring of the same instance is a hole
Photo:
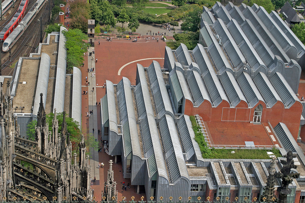
[[[20,21],[22,20],[24,14],[25,14],[26,9],[27,9],[28,2],[29,2],[29,0],[20,1],[19,8],[16,11],[15,15],[9,21],[9,23],[5,25],[3,30],[0,32],[1,41],[4,41],[9,36],[9,34],[11,34],[13,32],[13,30],[17,27],[17,25],[20,23]]]

